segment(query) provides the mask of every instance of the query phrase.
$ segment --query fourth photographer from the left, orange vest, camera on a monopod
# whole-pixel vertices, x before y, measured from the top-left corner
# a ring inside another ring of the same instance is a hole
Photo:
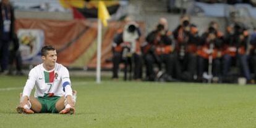
[[[205,78],[208,81],[211,81],[211,79],[213,79],[213,82],[220,81],[222,44],[223,33],[218,31],[218,23],[212,21],[208,30],[202,34],[197,50],[198,80],[202,81]],[[205,71],[208,72],[208,77],[203,75]]]

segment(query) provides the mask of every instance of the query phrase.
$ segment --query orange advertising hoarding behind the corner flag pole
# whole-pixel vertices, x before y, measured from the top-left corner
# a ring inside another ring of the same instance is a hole
[[[142,35],[145,33],[144,23],[139,22]],[[52,45],[58,52],[58,63],[62,65],[83,68],[96,68],[97,45],[96,20],[39,20],[17,19],[15,30],[42,30],[45,45]],[[124,26],[123,22],[109,22],[103,28],[101,49],[101,67],[111,68],[112,63],[105,60],[112,57],[111,44],[117,30]]]

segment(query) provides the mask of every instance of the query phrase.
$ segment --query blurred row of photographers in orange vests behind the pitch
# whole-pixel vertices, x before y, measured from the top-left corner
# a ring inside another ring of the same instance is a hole
[[[124,79],[143,81],[237,82],[256,80],[256,29],[253,33],[241,22],[220,31],[218,22],[198,34],[197,25],[182,15],[179,25],[168,30],[160,18],[155,30],[139,44],[139,25],[130,18],[113,40],[113,79],[124,63]],[[129,75],[128,75],[129,74]]]

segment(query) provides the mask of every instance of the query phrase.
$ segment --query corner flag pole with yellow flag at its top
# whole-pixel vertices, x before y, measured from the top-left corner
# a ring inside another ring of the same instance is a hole
[[[101,33],[102,33],[102,25],[108,26],[107,20],[110,18],[108,9],[106,9],[106,6],[104,2],[99,1],[98,2],[98,44],[97,44],[97,67],[96,67],[96,83],[100,83],[100,72],[101,72]]]

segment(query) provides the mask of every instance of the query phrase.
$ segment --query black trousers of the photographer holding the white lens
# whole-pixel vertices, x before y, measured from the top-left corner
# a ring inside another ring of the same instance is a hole
[[[138,54],[132,54],[132,57],[122,58],[122,53],[113,52],[113,76],[112,78],[119,78],[119,64],[127,61],[132,65],[133,79],[142,79],[142,57]]]

